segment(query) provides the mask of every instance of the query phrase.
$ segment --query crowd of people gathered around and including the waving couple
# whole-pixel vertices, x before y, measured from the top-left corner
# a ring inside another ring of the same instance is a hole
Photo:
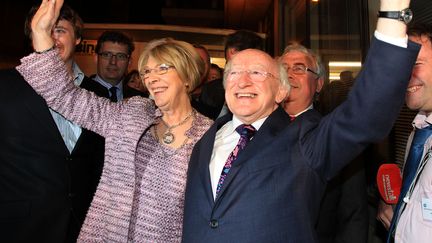
[[[5,242],[367,242],[361,153],[404,100],[419,113],[402,191],[377,219],[388,242],[432,239],[432,26],[378,18],[362,71],[343,73],[336,95],[312,50],[274,58],[247,30],[227,36],[223,70],[173,38],[130,67],[132,39],[106,31],[86,77],[82,29],[63,0],[43,0],[25,25],[34,52],[0,71]]]

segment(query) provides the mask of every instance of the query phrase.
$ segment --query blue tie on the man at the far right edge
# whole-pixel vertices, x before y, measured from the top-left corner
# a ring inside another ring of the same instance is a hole
[[[397,222],[399,221],[400,215],[405,209],[405,202],[403,201],[404,197],[406,196],[411,184],[413,183],[418,167],[420,165],[424,143],[430,135],[432,135],[432,126],[418,129],[414,133],[408,158],[404,166],[401,193],[399,195],[398,203],[396,204],[393,212],[393,218],[390,224],[389,237],[387,239],[387,242],[393,242]]]

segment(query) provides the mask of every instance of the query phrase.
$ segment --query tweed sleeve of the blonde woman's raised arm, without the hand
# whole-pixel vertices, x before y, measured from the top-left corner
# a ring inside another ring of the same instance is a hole
[[[120,122],[125,105],[75,86],[57,50],[30,54],[17,70],[51,109],[79,126],[106,137]]]

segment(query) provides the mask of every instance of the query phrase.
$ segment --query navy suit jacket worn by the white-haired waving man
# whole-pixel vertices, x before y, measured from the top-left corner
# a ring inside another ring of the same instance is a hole
[[[374,41],[348,100],[323,117],[293,123],[276,109],[238,155],[213,200],[209,161],[217,119],[195,145],[188,170],[183,242],[317,242],[314,226],[326,181],[390,131],[419,46]]]

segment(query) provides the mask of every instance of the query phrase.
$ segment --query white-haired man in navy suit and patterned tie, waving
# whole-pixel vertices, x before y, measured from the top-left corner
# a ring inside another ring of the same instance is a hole
[[[381,0],[380,8],[408,6]],[[312,109],[291,124],[279,106],[289,87],[281,65],[259,50],[233,57],[224,77],[233,115],[195,145],[183,242],[317,242],[326,181],[388,134],[419,51],[402,21],[379,18],[375,36],[347,101],[322,119]]]

